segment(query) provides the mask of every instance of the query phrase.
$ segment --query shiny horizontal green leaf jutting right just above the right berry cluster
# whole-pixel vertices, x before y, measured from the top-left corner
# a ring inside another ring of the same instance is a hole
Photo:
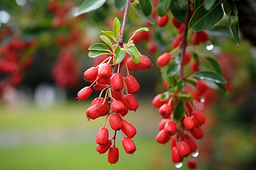
[[[207,79],[215,83],[226,83],[226,80],[221,75],[212,71],[199,71],[195,74],[192,74],[192,77],[198,79]]]

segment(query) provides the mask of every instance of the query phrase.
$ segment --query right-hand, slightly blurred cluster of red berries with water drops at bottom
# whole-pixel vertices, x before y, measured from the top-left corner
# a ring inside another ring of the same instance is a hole
[[[196,91],[193,92],[195,99],[200,101],[200,97],[204,95],[207,88],[207,85],[203,81],[198,80]],[[176,120],[173,113],[175,104],[177,103],[176,96],[170,95],[167,99],[161,100],[162,95],[158,94],[152,100],[152,105],[159,108],[159,114],[163,118],[158,125],[160,131],[156,135],[156,141],[166,144],[171,140],[171,160],[174,162],[175,167],[178,168],[182,166],[184,157],[189,155],[196,157],[198,155],[197,145],[193,138],[203,138],[204,133],[200,126],[204,124],[205,117],[201,111],[193,106],[191,101],[187,101],[185,103],[185,114],[183,118]],[[192,168],[196,162],[189,160],[187,164],[189,168]]]

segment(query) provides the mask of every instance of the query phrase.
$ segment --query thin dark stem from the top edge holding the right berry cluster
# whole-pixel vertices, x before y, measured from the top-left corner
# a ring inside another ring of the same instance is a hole
[[[187,16],[188,16],[188,20],[187,22],[185,22],[185,29],[183,32],[183,40],[182,40],[182,50],[181,50],[181,54],[180,54],[180,76],[179,79],[183,79],[183,71],[184,71],[184,54],[185,54],[185,49],[187,47],[187,34],[188,34],[188,21],[190,20],[190,8],[189,8],[189,1],[188,1],[188,10],[187,10]]]

